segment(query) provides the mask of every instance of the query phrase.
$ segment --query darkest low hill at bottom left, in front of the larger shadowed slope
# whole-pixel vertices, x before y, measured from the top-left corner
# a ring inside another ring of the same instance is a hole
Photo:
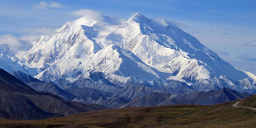
[[[21,94],[0,91],[0,117],[7,119],[44,119],[60,116],[43,111]]]

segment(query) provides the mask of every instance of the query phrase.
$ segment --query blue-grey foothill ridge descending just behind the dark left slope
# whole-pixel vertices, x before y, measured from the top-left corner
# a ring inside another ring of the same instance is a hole
[[[73,102],[98,104],[109,108],[119,108],[129,102],[128,99],[110,92],[93,89],[93,83],[89,79],[80,79],[76,83],[70,84],[67,88],[61,89],[54,83],[45,83],[20,71],[11,72],[11,74],[38,92],[51,92]],[[91,88],[87,88],[87,85],[91,86]]]

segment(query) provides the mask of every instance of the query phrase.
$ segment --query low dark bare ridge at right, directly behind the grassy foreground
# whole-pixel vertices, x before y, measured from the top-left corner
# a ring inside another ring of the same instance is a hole
[[[221,88],[209,92],[187,92],[183,94],[151,93],[143,97],[137,97],[126,103],[122,107],[152,107],[168,106],[178,104],[192,105],[214,105],[223,102],[231,102],[244,97],[249,97],[248,93],[240,93],[229,88]]]

